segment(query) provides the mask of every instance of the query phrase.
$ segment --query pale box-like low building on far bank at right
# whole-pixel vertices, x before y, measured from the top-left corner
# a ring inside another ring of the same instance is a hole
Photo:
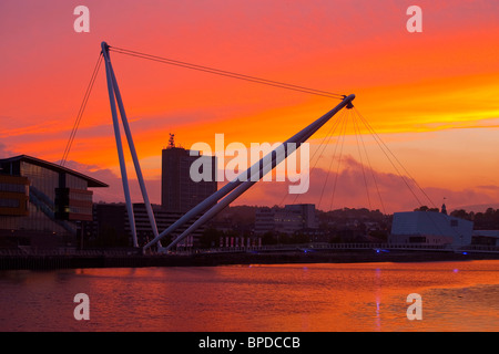
[[[395,212],[391,243],[471,244],[473,222],[435,211]]]

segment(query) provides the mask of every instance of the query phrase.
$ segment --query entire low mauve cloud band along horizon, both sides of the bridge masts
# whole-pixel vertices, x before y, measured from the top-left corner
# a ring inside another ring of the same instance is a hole
[[[109,188],[94,188],[94,201],[124,201],[121,177],[111,169],[95,165],[68,162],[67,167],[108,184]],[[136,179],[129,174],[133,202],[143,202]],[[306,178],[306,176],[303,176]],[[258,181],[232,205],[284,206],[287,204],[315,204],[317,209],[369,208],[383,212],[408,211],[426,205],[440,208],[446,202],[449,211],[464,205],[493,205],[499,200],[499,188],[478,186],[452,190],[427,186],[420,188],[407,176],[379,171],[361,165],[352,156],[342,159],[342,169],[314,168],[309,174],[309,188],[305,194],[288,194],[289,181]],[[226,181],[225,181],[226,183]],[[221,188],[225,183],[220,183]],[[161,204],[161,179],[146,179],[151,202]],[[297,183],[296,183],[297,184]],[[482,188],[487,187],[487,188]],[[483,191],[483,189],[490,189]],[[446,199],[444,199],[446,198]]]

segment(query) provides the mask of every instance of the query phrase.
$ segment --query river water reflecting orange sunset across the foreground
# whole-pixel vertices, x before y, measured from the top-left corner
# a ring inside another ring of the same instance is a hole
[[[2,332],[485,332],[499,330],[499,261],[16,270],[0,299]]]

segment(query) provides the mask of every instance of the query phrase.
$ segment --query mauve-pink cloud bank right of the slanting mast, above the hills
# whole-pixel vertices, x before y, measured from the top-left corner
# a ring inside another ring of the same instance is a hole
[[[440,208],[444,201],[448,210],[455,210],[462,205],[499,200],[499,190],[483,192],[479,188],[420,187],[407,176],[370,169],[349,156],[344,158],[338,174],[323,168],[310,170],[310,186],[306,194],[287,195],[287,185],[261,181],[235,204],[284,206],[310,202],[322,210],[365,207],[391,214],[414,210],[421,205]]]

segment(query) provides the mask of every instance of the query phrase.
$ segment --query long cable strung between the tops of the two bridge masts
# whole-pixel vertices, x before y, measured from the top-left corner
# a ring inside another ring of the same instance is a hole
[[[160,63],[164,63],[164,64],[169,64],[169,65],[175,65],[175,66],[202,71],[202,72],[206,72],[206,73],[211,73],[211,74],[216,74],[216,75],[221,75],[221,76],[227,76],[227,77],[232,77],[232,79],[238,79],[238,80],[249,81],[249,82],[254,82],[254,83],[259,83],[259,84],[264,84],[264,85],[268,85],[268,86],[286,88],[286,90],[292,90],[292,91],[297,91],[297,92],[303,92],[303,93],[308,93],[308,94],[313,94],[313,95],[336,98],[336,100],[345,98],[345,95],[338,94],[338,93],[287,84],[284,82],[278,82],[278,81],[273,81],[273,80],[267,80],[267,79],[262,79],[262,77],[256,77],[256,76],[251,76],[251,75],[244,75],[244,74],[230,72],[230,71],[225,71],[225,70],[220,70],[220,69],[215,69],[215,67],[203,66],[203,65],[192,64],[192,63],[177,61],[177,60],[173,60],[173,59],[167,59],[167,58],[163,58],[163,56],[151,55],[151,54],[146,54],[146,53],[131,51],[131,50],[123,49],[123,48],[110,46],[110,51],[130,55],[130,56],[142,58],[145,60],[151,60],[151,61],[155,61],[155,62],[160,62]]]

